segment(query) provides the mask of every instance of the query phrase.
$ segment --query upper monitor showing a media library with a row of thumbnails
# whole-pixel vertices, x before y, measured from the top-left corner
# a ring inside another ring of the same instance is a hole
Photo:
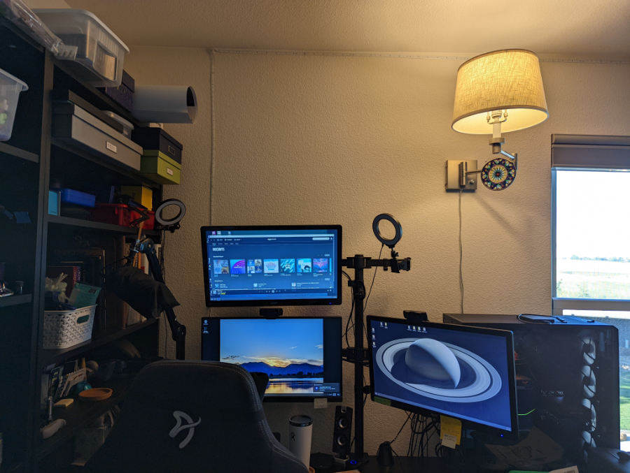
[[[202,226],[208,307],[339,305],[339,225]]]

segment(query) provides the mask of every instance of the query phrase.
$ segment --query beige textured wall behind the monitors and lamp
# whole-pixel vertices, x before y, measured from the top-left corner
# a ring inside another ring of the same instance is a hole
[[[412,270],[377,273],[368,314],[426,310],[440,321],[459,311],[458,193],[444,191],[446,159],[491,157],[486,136],[450,129],[459,61],[321,55],[214,55],[216,161],[214,224],[344,226],[344,256],[377,257],[372,219],[389,212],[402,224],[397,249]],[[188,358],[200,357],[204,307],[199,227],[209,223],[210,68],[204,50],[132,48],[127,71],[142,84],[192,85],[200,103],[193,125],[166,125],[184,144],[182,185],[167,196],[188,207],[181,231],[167,238],[167,278],[189,329]],[[543,63],[550,118],[505,135],[519,153],[517,180],[463,194],[464,311],[550,311],[550,135],[630,134],[630,66]],[[588,192],[589,189],[584,189]],[[372,272],[366,272],[366,280]],[[287,315],[338,315],[340,307],[291,308]],[[212,315],[255,316],[257,309]],[[172,347],[168,351],[173,356]],[[346,403],[352,366],[344,367]],[[330,451],[332,408],[265,406],[269,425],[288,435],[295,413],[314,416],[313,451]],[[393,439],[405,414],[366,405],[367,450]],[[394,445],[405,453],[408,429]]]

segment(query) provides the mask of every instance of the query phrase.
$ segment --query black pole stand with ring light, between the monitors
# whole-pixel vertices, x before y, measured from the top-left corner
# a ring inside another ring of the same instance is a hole
[[[379,231],[379,222],[388,220],[395,228],[395,237],[385,240]],[[370,392],[370,386],[363,386],[363,367],[369,363],[367,349],[363,347],[363,300],[365,299],[365,281],[363,270],[382,267],[384,271],[391,268],[392,272],[409,271],[411,258],[396,259],[398,253],[394,251],[394,245],[402,238],[402,227],[390,214],[379,214],[372,222],[372,230],[379,242],[391,249],[391,259],[372,259],[362,254],[356,254],[352,258],[342,261],[344,268],[354,270],[354,279],[348,281],[354,298],[354,347],[342,350],[344,361],[354,363],[354,461],[356,465],[367,461],[363,444],[363,395]],[[353,463],[354,465],[354,463]]]

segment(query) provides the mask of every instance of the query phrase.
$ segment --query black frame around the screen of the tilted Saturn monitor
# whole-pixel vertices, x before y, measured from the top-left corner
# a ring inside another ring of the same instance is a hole
[[[505,348],[507,352],[507,375],[508,378],[512,380],[512,382],[508,382],[508,388],[510,393],[510,421],[512,424],[512,430],[503,430],[500,428],[492,427],[490,425],[485,425],[483,423],[478,423],[475,421],[470,421],[469,419],[461,419],[453,414],[443,414],[441,412],[432,411],[431,409],[426,409],[424,407],[414,406],[412,404],[407,404],[406,402],[400,402],[398,400],[393,400],[386,398],[385,396],[379,396],[379,398],[384,398],[388,400],[391,407],[396,407],[398,409],[402,409],[407,412],[415,412],[417,414],[422,414],[424,416],[436,416],[436,415],[444,415],[453,417],[454,419],[458,419],[462,423],[463,429],[477,430],[479,432],[486,432],[491,435],[496,435],[498,437],[503,437],[505,439],[517,440],[519,438],[519,423],[518,423],[518,402],[517,402],[517,387],[516,387],[516,367],[514,365],[514,334],[510,330],[500,330],[498,328],[480,328],[480,327],[471,327],[471,326],[462,326],[454,323],[435,323],[435,322],[417,322],[408,321],[407,319],[398,319],[395,317],[381,317],[381,316],[366,316],[366,329],[367,333],[370,333],[370,328],[372,327],[372,321],[376,322],[388,322],[388,323],[400,323],[401,325],[416,325],[423,326],[426,328],[441,328],[443,330],[454,330],[458,332],[467,332],[467,333],[479,333],[484,335],[495,335],[503,337],[505,340]],[[370,399],[372,402],[374,401],[374,354],[372,352],[372,344],[369,344],[367,349],[369,364],[370,364]]]

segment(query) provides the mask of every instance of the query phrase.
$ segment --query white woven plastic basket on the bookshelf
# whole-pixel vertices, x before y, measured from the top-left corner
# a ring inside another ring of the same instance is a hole
[[[44,312],[43,347],[69,348],[92,338],[96,305]]]

